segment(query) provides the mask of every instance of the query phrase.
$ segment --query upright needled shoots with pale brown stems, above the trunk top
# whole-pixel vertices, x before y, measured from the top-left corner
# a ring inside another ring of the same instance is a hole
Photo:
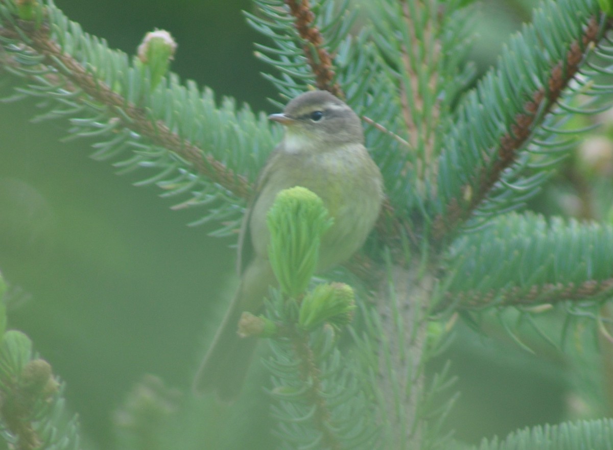
[[[407,197],[419,197],[409,205],[423,204],[432,183],[433,160],[441,153],[449,123],[445,118],[452,105],[474,76],[474,67],[466,63],[470,50],[469,13],[459,2],[448,1],[444,6],[432,3],[376,1],[366,6],[371,15],[382,74],[389,80],[387,90],[393,90],[394,110],[391,117],[404,115],[400,133],[405,148],[390,152],[391,167],[402,167],[402,185],[395,186],[400,204]],[[436,17],[436,26],[431,26]],[[413,25],[407,26],[411,18]],[[385,101],[381,99],[381,101]],[[400,104],[398,105],[398,102]],[[390,102],[386,102],[389,105]],[[436,111],[436,114],[433,112]],[[386,127],[390,116],[381,118]],[[411,210],[408,210],[411,212]]]

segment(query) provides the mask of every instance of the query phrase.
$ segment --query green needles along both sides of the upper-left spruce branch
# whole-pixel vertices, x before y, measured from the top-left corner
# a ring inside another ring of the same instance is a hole
[[[10,4],[0,5],[0,23],[12,22]],[[237,199],[228,189],[220,189],[219,182],[203,177],[198,169],[210,168],[211,159],[206,158],[206,152],[232,167],[233,172],[226,175],[226,186],[235,182],[234,174],[253,181],[268,151],[278,141],[265,115],[255,115],[246,106],[237,109],[229,98],[218,106],[211,90],[200,90],[191,81],[181,85],[173,74],[153,86],[157,83],[142,71],[137,59],[110,50],[104,40],[83,32],[51,2],[45,12],[53,24],[48,37],[57,44],[57,54],[69,54],[85,68],[75,74],[74,68],[67,67],[59,56],[52,56],[58,71],[68,79],[82,77],[82,82],[101,83],[109,90],[91,86],[88,91],[75,91],[67,86],[66,79],[45,76],[49,69],[40,65],[35,51],[18,45],[14,38],[2,36],[0,40],[18,63],[6,69],[28,79],[28,85],[18,88],[12,99],[34,96],[44,100],[41,105],[47,112],[40,113],[36,120],[69,118],[69,138],[93,140],[94,159],[114,161],[120,174],[148,172],[148,177],[136,185],[157,184],[164,190],[164,197],[188,196],[177,208],[207,205],[209,210],[198,223],[214,219],[224,224],[217,234],[229,234],[242,209],[237,208]],[[88,77],[97,82],[88,81]],[[117,104],[112,104],[113,99]],[[132,107],[139,107],[144,114],[135,116],[126,111]],[[172,131],[170,135],[162,135],[161,123]],[[181,149],[187,143],[202,149],[197,150],[202,153],[183,153]],[[169,148],[173,146],[175,151]],[[192,159],[186,159],[188,156]]]

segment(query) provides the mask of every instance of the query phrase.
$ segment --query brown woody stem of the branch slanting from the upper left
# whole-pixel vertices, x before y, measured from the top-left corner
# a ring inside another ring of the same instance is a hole
[[[54,67],[59,74],[63,75],[69,81],[71,85],[69,87],[74,90],[82,90],[92,99],[107,105],[112,113],[121,111],[121,113],[116,113],[116,118],[121,120],[126,128],[142,135],[151,143],[178,154],[182,159],[188,161],[199,174],[210,178],[211,181],[218,183],[237,197],[249,196],[252,187],[245,177],[235,174],[223,162],[206,154],[202,148],[186,142],[178,134],[172,132],[163,121],[151,118],[145,110],[128,102],[123,96],[97,79],[91,71],[87,71],[82,64],[63,51],[50,38],[46,27],[29,29],[28,26],[23,26],[21,31],[26,32],[31,39],[29,47],[45,56],[44,64]],[[0,29],[0,33],[5,37],[18,37],[17,32],[7,28]],[[124,119],[126,116],[129,121]]]

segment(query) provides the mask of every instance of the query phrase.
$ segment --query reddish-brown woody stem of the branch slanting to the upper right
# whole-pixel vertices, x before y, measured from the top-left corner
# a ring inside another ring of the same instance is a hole
[[[592,17],[581,39],[573,42],[566,52],[565,59],[558,61],[552,67],[546,86],[541,87],[531,95],[530,101],[524,104],[524,112],[516,115],[514,122],[509,126],[509,130],[501,137],[496,154],[497,158],[491,165],[484,167],[476,175],[478,187],[472,189],[471,185],[467,184],[462,189],[463,193],[470,193],[466,196],[467,199],[452,199],[447,204],[446,212],[435,218],[435,238],[441,238],[468,218],[470,213],[485,199],[493,185],[500,180],[503,171],[515,162],[517,152],[530,139],[531,131],[537,121],[542,121],[546,115],[539,114],[539,111],[550,112],[555,102],[560,98],[562,91],[577,74],[585,51],[590,44],[595,42],[598,31],[598,19]]]

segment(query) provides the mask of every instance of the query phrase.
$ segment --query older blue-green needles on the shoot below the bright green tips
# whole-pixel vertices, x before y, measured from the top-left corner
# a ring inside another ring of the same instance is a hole
[[[297,321],[298,306],[281,296],[273,296],[266,310],[278,322]],[[352,354],[337,347],[337,333],[324,326],[270,340],[272,352],[264,364],[272,375],[272,414],[281,448],[376,447],[373,411],[354,376]]]

